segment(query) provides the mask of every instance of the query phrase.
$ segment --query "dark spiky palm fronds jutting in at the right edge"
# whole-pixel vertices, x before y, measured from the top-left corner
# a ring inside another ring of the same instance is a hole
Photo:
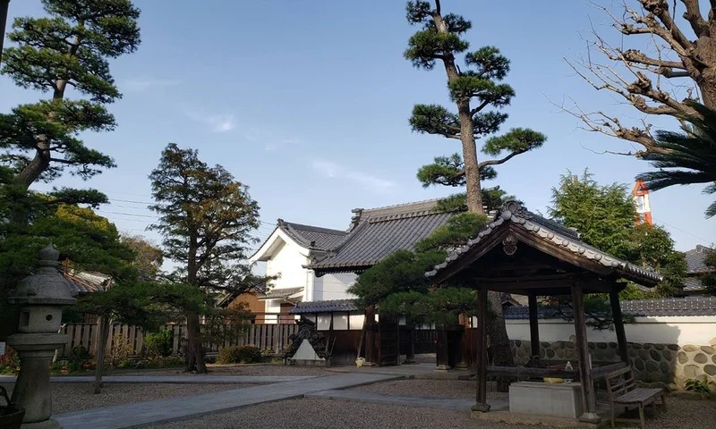
[[[686,105],[698,115],[683,115],[686,122],[683,132],[656,131],[656,151],[642,156],[656,172],[644,172],[636,176],[650,190],[669,188],[674,185],[707,183],[704,194],[716,193],[716,111],[694,100]],[[716,201],[706,209],[706,217],[716,215]]]

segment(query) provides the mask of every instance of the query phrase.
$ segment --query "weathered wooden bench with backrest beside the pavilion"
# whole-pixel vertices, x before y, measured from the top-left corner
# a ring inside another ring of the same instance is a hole
[[[631,366],[618,369],[604,376],[607,382],[607,393],[609,394],[609,403],[611,406],[611,427],[614,423],[619,422],[641,422],[644,429],[644,407],[652,405],[654,415],[659,415],[656,408],[656,400],[661,400],[661,407],[666,411],[666,391],[664,389],[646,389],[636,387],[634,371]],[[639,420],[627,418],[615,418],[615,407],[621,405],[628,410],[629,408],[639,408]]]

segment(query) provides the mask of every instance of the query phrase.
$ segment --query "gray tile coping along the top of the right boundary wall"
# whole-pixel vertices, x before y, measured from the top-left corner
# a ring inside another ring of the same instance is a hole
[[[671,298],[642,299],[621,301],[622,313],[626,315],[655,317],[677,315],[716,315],[716,298]],[[529,319],[530,310],[526,306],[507,307],[506,319]],[[537,316],[541,319],[558,318],[553,307],[539,307]]]

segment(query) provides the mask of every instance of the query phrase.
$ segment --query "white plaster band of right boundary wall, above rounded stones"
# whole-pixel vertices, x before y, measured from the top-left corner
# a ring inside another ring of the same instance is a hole
[[[708,345],[716,338],[716,316],[637,317],[635,324],[625,324],[626,341]],[[530,340],[527,320],[507,320],[510,340]],[[568,341],[575,334],[575,325],[564,320],[540,320],[540,341]],[[587,328],[588,341],[617,341],[613,331]]]

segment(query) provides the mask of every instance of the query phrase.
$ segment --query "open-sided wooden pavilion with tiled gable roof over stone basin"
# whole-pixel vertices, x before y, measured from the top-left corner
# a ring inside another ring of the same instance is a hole
[[[540,334],[537,323],[537,297],[570,297],[575,321],[575,349],[578,379],[581,382],[584,414],[581,421],[596,423],[596,393],[593,380],[615,368],[592,368],[586,339],[584,295],[609,294],[617,333],[619,356],[628,365],[626,335],[618,301],[625,280],[652,287],[661,276],[650,270],[611,257],[579,240],[576,231],[527,211],[516,201],[502,207],[496,220],[478,236],[456,249],[445,262],[425,273],[439,285],[447,281],[473,284],[477,301],[477,403],[474,411],[487,412],[486,375],[550,376],[548,368],[515,368],[487,366],[488,290],[526,295],[529,298],[530,332],[533,357],[540,356]],[[564,372],[562,372],[564,373]],[[575,374],[576,375],[576,374]],[[575,379],[577,377],[574,377]]]

